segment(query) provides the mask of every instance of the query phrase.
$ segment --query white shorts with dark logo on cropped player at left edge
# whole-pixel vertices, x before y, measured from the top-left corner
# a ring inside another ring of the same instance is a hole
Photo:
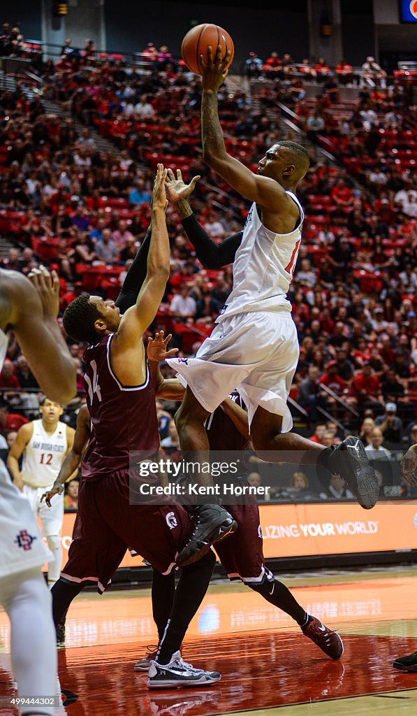
[[[24,495],[11,483],[0,460],[0,579],[41,568],[48,559],[36,518]]]

